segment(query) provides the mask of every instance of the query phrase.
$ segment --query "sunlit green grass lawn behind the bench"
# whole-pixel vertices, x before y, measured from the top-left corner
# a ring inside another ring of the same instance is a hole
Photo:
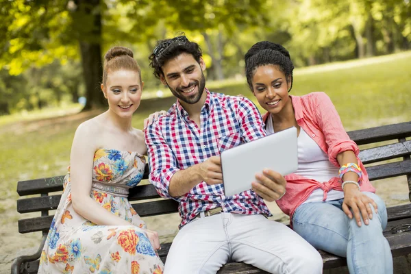
[[[210,86],[214,92],[242,94],[257,104],[245,80]],[[291,95],[319,90],[331,97],[347,130],[410,121],[411,51],[295,71]],[[134,115],[134,127],[141,128],[148,114],[167,110],[174,101],[173,97],[142,101]],[[0,214],[15,212],[18,180],[65,173],[75,129],[84,119],[44,125],[31,121],[21,123],[18,130],[6,130],[10,123],[0,127]],[[34,127],[36,123],[38,127]],[[1,222],[8,221],[1,218]]]

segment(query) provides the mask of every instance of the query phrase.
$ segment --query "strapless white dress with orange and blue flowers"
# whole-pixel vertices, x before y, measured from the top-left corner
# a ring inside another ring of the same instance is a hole
[[[95,225],[77,214],[69,171],[38,273],[162,273],[164,265],[142,230],[146,225],[127,199],[144,169],[145,158],[136,152],[95,152],[90,197],[130,225]]]

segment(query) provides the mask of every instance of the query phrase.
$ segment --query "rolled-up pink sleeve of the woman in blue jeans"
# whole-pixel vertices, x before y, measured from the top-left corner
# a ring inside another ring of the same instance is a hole
[[[340,166],[337,155],[349,150],[353,151],[358,158],[360,150],[356,142],[351,140],[345,132],[343,123],[331,99],[324,92],[315,92],[314,94],[316,95],[314,103],[316,119],[327,143],[329,161],[336,166]]]

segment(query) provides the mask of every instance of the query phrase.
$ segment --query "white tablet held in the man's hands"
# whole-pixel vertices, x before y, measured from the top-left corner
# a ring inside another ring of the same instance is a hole
[[[251,188],[256,173],[272,169],[288,175],[298,169],[297,128],[265,136],[221,153],[224,195],[232,196]]]

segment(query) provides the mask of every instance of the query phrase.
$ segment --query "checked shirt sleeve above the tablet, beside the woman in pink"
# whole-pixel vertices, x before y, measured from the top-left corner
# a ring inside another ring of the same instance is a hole
[[[244,142],[250,142],[266,136],[264,123],[256,105],[245,97],[238,97],[238,112],[241,136]]]

